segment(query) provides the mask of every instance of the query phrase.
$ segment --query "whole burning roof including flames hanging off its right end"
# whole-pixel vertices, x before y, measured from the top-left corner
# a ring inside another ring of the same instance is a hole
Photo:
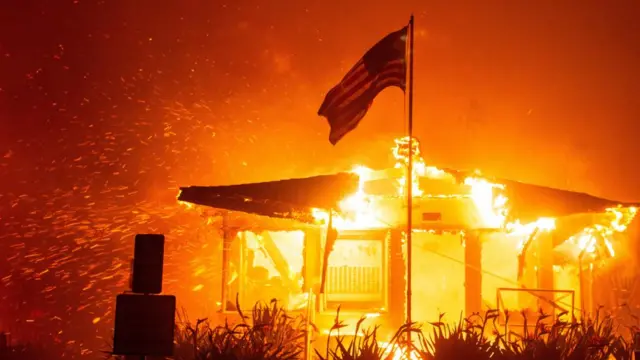
[[[420,208],[414,216],[421,216],[414,221],[415,230],[502,229],[520,235],[549,231],[556,244],[570,242],[589,252],[600,244],[613,256],[610,239],[624,232],[637,213],[635,203],[427,166],[418,142],[413,141],[411,150],[408,144],[407,138],[396,140],[396,164],[390,169],[357,167],[351,173],[300,179],[184,187],[178,200],[234,212],[236,223],[247,228],[290,226],[277,219],[322,225],[329,213],[339,230],[400,228],[406,224],[401,211],[406,209],[406,163],[413,156],[413,205]],[[269,220],[254,221],[242,213]]]

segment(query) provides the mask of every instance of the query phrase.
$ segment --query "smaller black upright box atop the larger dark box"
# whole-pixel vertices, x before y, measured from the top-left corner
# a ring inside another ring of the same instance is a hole
[[[137,234],[133,253],[131,291],[140,294],[162,292],[164,235]]]

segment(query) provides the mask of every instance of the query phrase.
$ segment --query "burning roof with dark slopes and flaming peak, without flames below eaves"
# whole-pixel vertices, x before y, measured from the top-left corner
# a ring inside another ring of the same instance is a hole
[[[314,223],[318,220],[320,212],[345,212],[356,207],[365,207],[364,198],[380,196],[372,195],[369,190],[369,185],[380,179],[392,180],[393,189],[385,194],[386,196],[402,197],[406,190],[406,162],[409,154],[412,154],[414,197],[466,196],[472,198],[477,206],[483,207],[484,212],[493,213],[494,222],[532,222],[540,218],[603,213],[616,207],[638,206],[513,180],[490,179],[479,175],[478,172],[427,166],[420,154],[419,142],[414,139],[413,144],[413,149],[409,149],[407,138],[396,140],[393,154],[397,162],[394,169],[375,171],[358,167],[351,173],[308,178],[227,186],[183,187],[180,189],[178,200],[211,208]],[[443,188],[439,184],[434,187],[431,180],[446,182],[449,186]],[[460,189],[455,188],[457,185],[468,186],[468,194],[456,193],[460,192]]]

